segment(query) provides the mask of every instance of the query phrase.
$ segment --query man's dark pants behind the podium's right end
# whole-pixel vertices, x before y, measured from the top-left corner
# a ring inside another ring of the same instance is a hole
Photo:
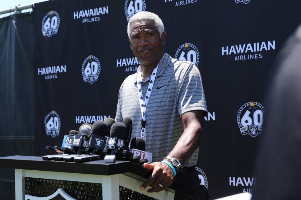
[[[179,172],[174,180],[183,185],[192,187],[195,191],[194,198],[185,197],[183,194],[176,192],[174,200],[210,200],[209,192],[205,186],[200,185],[200,179],[194,167],[189,167],[189,170],[185,172]]]

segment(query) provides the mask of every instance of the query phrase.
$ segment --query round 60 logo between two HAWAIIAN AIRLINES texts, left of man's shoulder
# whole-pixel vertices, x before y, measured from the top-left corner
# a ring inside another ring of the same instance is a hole
[[[84,82],[94,83],[100,74],[100,62],[94,55],[89,55],[81,66]]]

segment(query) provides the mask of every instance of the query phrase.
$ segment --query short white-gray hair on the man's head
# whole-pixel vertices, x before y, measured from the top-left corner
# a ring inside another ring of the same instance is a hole
[[[158,15],[156,15],[155,13],[151,13],[151,12],[147,12],[147,11],[141,11],[141,12],[138,12],[138,13],[134,14],[131,17],[130,21],[127,23],[127,35],[129,36],[130,39],[131,39],[131,24],[134,21],[138,21],[138,20],[152,20],[152,21],[154,21],[155,28],[159,32],[159,35],[160,35],[160,38],[161,38],[162,32],[164,32],[164,25],[163,25],[163,22],[160,19],[160,17],[158,17]]]

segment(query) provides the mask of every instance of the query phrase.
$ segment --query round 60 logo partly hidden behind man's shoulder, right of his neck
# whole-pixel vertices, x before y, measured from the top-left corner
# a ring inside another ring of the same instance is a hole
[[[186,42],[178,48],[174,58],[182,61],[192,62],[197,66],[199,64],[200,54],[196,46]]]

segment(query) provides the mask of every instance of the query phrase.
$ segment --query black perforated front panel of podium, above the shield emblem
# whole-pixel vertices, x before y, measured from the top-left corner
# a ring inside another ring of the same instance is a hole
[[[75,199],[102,200],[102,184],[100,183],[25,178],[25,194],[47,197],[59,188]]]

